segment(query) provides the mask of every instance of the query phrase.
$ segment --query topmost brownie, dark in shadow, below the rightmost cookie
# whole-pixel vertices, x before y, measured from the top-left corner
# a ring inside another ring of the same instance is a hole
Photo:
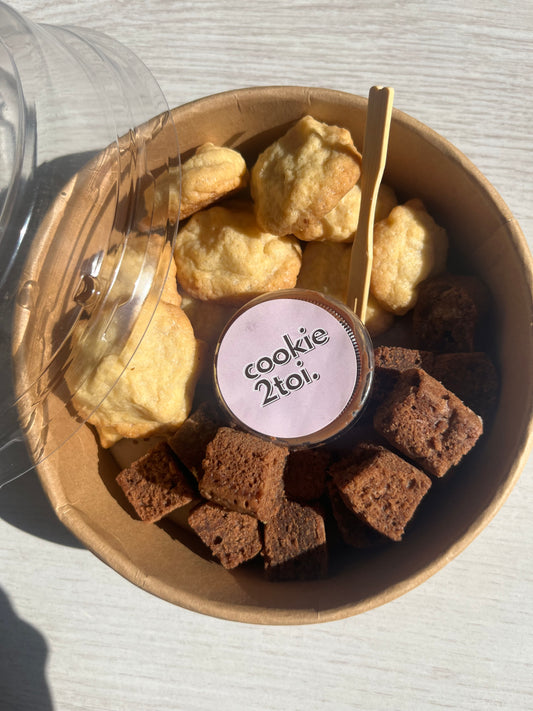
[[[442,275],[420,285],[413,309],[413,336],[419,348],[440,352],[475,350],[488,291],[474,276]]]

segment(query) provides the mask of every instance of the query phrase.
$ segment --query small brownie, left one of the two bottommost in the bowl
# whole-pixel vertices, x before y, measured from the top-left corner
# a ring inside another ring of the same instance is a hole
[[[205,501],[190,512],[188,523],[228,570],[255,558],[261,551],[259,522],[247,514]]]

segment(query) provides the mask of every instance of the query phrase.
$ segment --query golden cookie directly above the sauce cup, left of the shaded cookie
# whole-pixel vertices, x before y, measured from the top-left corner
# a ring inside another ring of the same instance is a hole
[[[238,305],[258,294],[290,289],[301,265],[295,237],[262,231],[252,209],[215,206],[178,232],[174,259],[181,287],[203,301]]]

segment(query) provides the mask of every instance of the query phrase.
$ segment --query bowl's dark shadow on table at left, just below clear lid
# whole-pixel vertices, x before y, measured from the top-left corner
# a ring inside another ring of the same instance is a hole
[[[0,488],[0,518],[32,536],[83,548],[55,515],[35,471]]]

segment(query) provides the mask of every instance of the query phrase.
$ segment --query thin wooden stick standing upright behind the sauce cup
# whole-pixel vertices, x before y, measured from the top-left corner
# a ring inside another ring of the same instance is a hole
[[[348,306],[365,321],[372,274],[374,217],[381,178],[387,160],[394,89],[373,86],[368,94],[363,159],[361,206],[352,245],[348,276]]]

